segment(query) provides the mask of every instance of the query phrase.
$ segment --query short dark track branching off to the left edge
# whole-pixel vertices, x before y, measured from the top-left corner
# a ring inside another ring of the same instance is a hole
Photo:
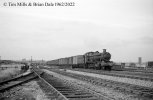
[[[37,76],[34,74],[34,72],[29,72],[27,74],[23,74],[15,78],[3,81],[0,83],[0,93],[3,93],[13,87],[21,85],[35,78],[37,78]]]

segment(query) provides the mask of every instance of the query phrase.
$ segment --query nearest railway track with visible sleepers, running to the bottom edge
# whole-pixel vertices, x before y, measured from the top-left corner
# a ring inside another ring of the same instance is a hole
[[[38,72],[34,69],[34,72]],[[38,77],[46,84],[45,90],[51,99],[57,100],[114,100],[70,81],[59,79],[53,75],[44,73]]]

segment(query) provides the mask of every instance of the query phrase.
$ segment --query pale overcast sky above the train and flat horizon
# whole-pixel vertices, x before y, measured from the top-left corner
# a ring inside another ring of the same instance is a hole
[[[45,0],[72,1],[74,7],[4,7],[5,1],[2,59],[51,60],[105,48],[112,61],[153,61],[153,0]]]

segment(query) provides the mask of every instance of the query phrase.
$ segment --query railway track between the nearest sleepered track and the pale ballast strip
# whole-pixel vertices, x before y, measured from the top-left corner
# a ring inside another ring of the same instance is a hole
[[[66,73],[65,71],[59,71],[59,70],[51,70],[51,71],[65,75],[65,76],[69,76],[72,78],[76,78],[79,80],[83,80],[93,85],[113,88],[114,90],[124,92],[124,93],[134,94],[138,97],[146,98],[148,100],[153,99],[153,89],[152,88],[147,88],[147,87],[142,87],[142,86],[132,85],[132,84],[126,84],[126,83],[121,83],[121,82],[115,82],[111,80],[104,80],[104,79],[85,76],[85,75]]]

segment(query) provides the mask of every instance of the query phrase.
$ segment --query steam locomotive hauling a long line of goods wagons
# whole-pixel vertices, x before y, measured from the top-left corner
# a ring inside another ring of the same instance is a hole
[[[84,55],[60,58],[46,62],[47,65],[72,66],[72,68],[94,68],[111,70],[113,62],[111,54],[103,49],[103,52],[87,52]]]

